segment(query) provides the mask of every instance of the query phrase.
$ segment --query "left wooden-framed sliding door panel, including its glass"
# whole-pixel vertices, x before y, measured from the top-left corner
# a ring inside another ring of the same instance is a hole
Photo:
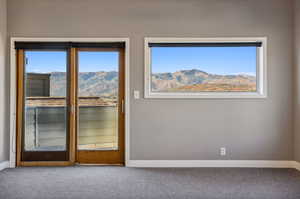
[[[67,49],[17,51],[17,166],[72,164],[70,70]]]

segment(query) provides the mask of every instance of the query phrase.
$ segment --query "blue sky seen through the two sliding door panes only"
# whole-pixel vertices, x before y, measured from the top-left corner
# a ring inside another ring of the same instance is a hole
[[[26,51],[26,72],[66,72],[67,53],[64,51]],[[79,52],[80,72],[117,71],[117,52]]]

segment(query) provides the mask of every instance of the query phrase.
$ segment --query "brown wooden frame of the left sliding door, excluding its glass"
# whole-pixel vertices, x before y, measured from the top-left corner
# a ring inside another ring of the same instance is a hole
[[[74,67],[72,67],[72,64],[75,64],[74,60],[74,55],[72,55],[73,49],[70,50],[59,50],[61,52],[66,52],[66,72],[70,74],[70,76],[74,73]],[[32,50],[29,50],[32,51]],[[36,51],[36,50],[33,50]],[[38,50],[38,51],[44,51],[44,50]],[[48,51],[48,50],[47,50]],[[50,50],[52,51],[52,50]],[[69,109],[69,107],[72,106],[72,99],[74,98],[74,80],[70,78],[70,76],[67,75],[67,81],[66,81],[66,86],[67,86],[67,92],[66,92],[66,102],[67,102],[67,120],[66,120],[66,125],[67,125],[67,136],[66,136],[66,152],[64,151],[39,151],[39,152],[24,152],[22,148],[24,147],[24,106],[25,106],[25,81],[24,81],[24,74],[25,74],[25,50],[19,49],[16,51],[17,53],[17,128],[16,128],[16,148],[17,148],[17,153],[16,153],[16,166],[68,166],[74,164],[74,156],[72,153],[72,149],[74,147],[73,143],[73,132],[74,128],[72,128],[72,124],[74,124],[74,114],[72,113]],[[72,97],[73,96],[73,97]],[[43,153],[52,153],[54,154],[53,156],[57,156],[58,154],[63,155],[63,158],[66,160],[62,161],[24,161],[22,160],[22,156],[25,156],[25,154],[29,154],[29,156],[34,156],[37,159],[43,159],[41,157]],[[68,160],[67,160],[68,159]]]

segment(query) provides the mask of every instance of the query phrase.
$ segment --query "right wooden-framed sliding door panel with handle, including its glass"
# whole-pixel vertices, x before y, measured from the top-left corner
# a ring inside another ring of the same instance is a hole
[[[76,161],[124,164],[124,49],[79,48],[76,53]]]

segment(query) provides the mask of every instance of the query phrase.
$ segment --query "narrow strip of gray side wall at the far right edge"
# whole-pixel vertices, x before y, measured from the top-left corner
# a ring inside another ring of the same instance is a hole
[[[300,162],[300,0],[294,1],[295,25],[295,160]]]

